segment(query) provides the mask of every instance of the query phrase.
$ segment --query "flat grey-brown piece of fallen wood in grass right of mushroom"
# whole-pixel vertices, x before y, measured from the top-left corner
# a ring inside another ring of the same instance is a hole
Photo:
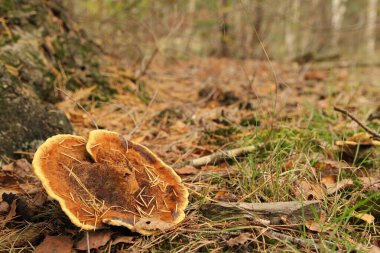
[[[289,201],[272,203],[216,202],[201,207],[203,216],[215,220],[249,218],[265,225],[301,224],[314,220],[321,212],[320,201]]]

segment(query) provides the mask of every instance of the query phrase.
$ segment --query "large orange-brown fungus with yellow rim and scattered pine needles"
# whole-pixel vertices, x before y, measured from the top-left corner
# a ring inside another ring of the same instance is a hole
[[[175,171],[143,145],[107,130],[46,140],[35,174],[76,226],[125,226],[149,235],[181,222],[188,190]]]

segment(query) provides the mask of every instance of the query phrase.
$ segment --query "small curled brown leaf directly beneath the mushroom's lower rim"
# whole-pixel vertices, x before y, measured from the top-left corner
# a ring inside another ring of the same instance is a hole
[[[87,234],[89,244],[87,245]],[[107,244],[111,239],[112,232],[109,230],[96,230],[85,232],[83,238],[75,244],[75,248],[78,250],[98,249]]]

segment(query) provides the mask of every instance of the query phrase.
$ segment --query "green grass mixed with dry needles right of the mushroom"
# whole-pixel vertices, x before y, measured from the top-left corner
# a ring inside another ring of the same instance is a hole
[[[336,119],[332,116],[324,116],[314,111],[304,129],[280,127],[274,129],[272,133],[262,130],[253,136],[245,137],[245,144],[257,144],[268,140],[268,135],[271,136],[263,150],[236,160],[231,165],[238,169],[236,176],[215,176],[192,185],[193,189],[197,189],[198,194],[191,194],[190,202],[192,204],[188,211],[189,218],[181,227],[186,231],[187,227],[195,226],[197,229],[193,230],[197,232],[168,234],[164,236],[166,238],[163,243],[156,244],[150,250],[152,252],[212,252],[214,250],[223,252],[308,252],[315,250],[365,252],[366,246],[372,245],[376,238],[379,239],[380,226],[378,223],[368,224],[353,218],[353,212],[360,210],[362,213],[371,213],[371,207],[364,209],[362,207],[368,205],[371,199],[378,196],[378,193],[359,200],[357,193],[362,188],[360,184],[322,199],[322,209],[327,217],[323,226],[329,228],[326,229],[326,232],[312,232],[303,225],[285,226],[279,229],[283,233],[302,240],[310,238],[321,240],[320,243],[309,248],[260,235],[261,227],[241,217],[231,216],[228,219],[208,220],[199,216],[197,210],[203,203],[214,199],[219,189],[227,189],[247,202],[302,199],[302,197],[294,195],[295,184],[300,179],[320,183],[312,171],[313,159],[311,157],[315,154],[326,155],[326,150],[319,146],[317,140],[325,140],[330,144],[336,140],[337,136],[330,132],[328,127],[334,120]],[[310,131],[311,129],[314,131]],[[337,154],[336,157],[338,158],[339,155]],[[292,168],[284,168],[289,161],[293,162]],[[357,179],[353,173],[341,173],[340,177]],[[194,216],[196,216],[196,221],[191,220]],[[319,217],[316,217],[317,221],[318,219]],[[215,229],[218,232],[210,232]],[[228,240],[243,232],[250,233],[252,240],[243,245],[229,247]]]

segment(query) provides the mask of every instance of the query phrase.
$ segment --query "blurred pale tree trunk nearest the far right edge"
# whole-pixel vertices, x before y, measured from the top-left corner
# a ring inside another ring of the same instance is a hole
[[[377,19],[377,0],[368,0],[367,3],[367,25],[365,29],[367,39],[368,55],[373,55],[376,43],[376,19]]]

